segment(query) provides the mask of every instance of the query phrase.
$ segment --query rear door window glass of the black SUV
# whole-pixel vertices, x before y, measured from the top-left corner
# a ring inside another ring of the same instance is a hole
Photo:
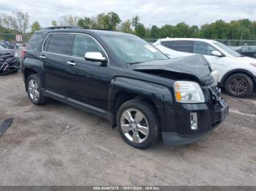
[[[61,55],[71,55],[72,35],[71,34],[52,34],[48,44],[48,52]]]

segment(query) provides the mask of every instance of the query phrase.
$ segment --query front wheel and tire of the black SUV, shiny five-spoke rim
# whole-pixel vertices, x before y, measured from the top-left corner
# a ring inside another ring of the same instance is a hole
[[[157,111],[146,101],[134,99],[121,105],[117,113],[119,133],[132,147],[146,149],[159,139]]]

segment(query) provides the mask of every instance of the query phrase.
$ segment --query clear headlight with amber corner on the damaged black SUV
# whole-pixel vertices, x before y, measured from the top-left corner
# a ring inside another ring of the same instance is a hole
[[[181,103],[203,103],[203,90],[196,82],[177,81],[174,83],[176,101]]]

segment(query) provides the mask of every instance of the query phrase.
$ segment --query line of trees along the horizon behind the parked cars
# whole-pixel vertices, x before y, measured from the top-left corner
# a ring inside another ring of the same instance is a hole
[[[6,15],[0,12],[0,33],[20,34],[28,28],[29,14],[26,12],[14,12]],[[79,18],[72,15],[64,15],[51,22],[52,26],[80,26],[86,29],[105,29],[135,34],[141,38],[159,39],[165,37],[187,37],[204,39],[250,39],[256,40],[256,21],[249,19],[232,20],[226,23],[224,20],[216,20],[214,23],[206,23],[203,26],[189,26],[181,22],[176,25],[158,27],[153,25],[146,27],[140,22],[140,17],[135,15],[131,20],[121,21],[116,12],[100,13],[96,17]],[[39,30],[40,25],[34,22],[31,33]]]

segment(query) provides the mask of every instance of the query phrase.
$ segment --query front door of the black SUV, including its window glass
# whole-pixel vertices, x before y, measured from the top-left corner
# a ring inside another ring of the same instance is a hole
[[[72,57],[69,58],[67,68],[67,94],[77,104],[83,103],[99,109],[108,108],[108,87],[112,79],[109,65],[102,65],[93,61],[86,61],[86,52],[105,51],[99,43],[86,34],[75,34]]]

